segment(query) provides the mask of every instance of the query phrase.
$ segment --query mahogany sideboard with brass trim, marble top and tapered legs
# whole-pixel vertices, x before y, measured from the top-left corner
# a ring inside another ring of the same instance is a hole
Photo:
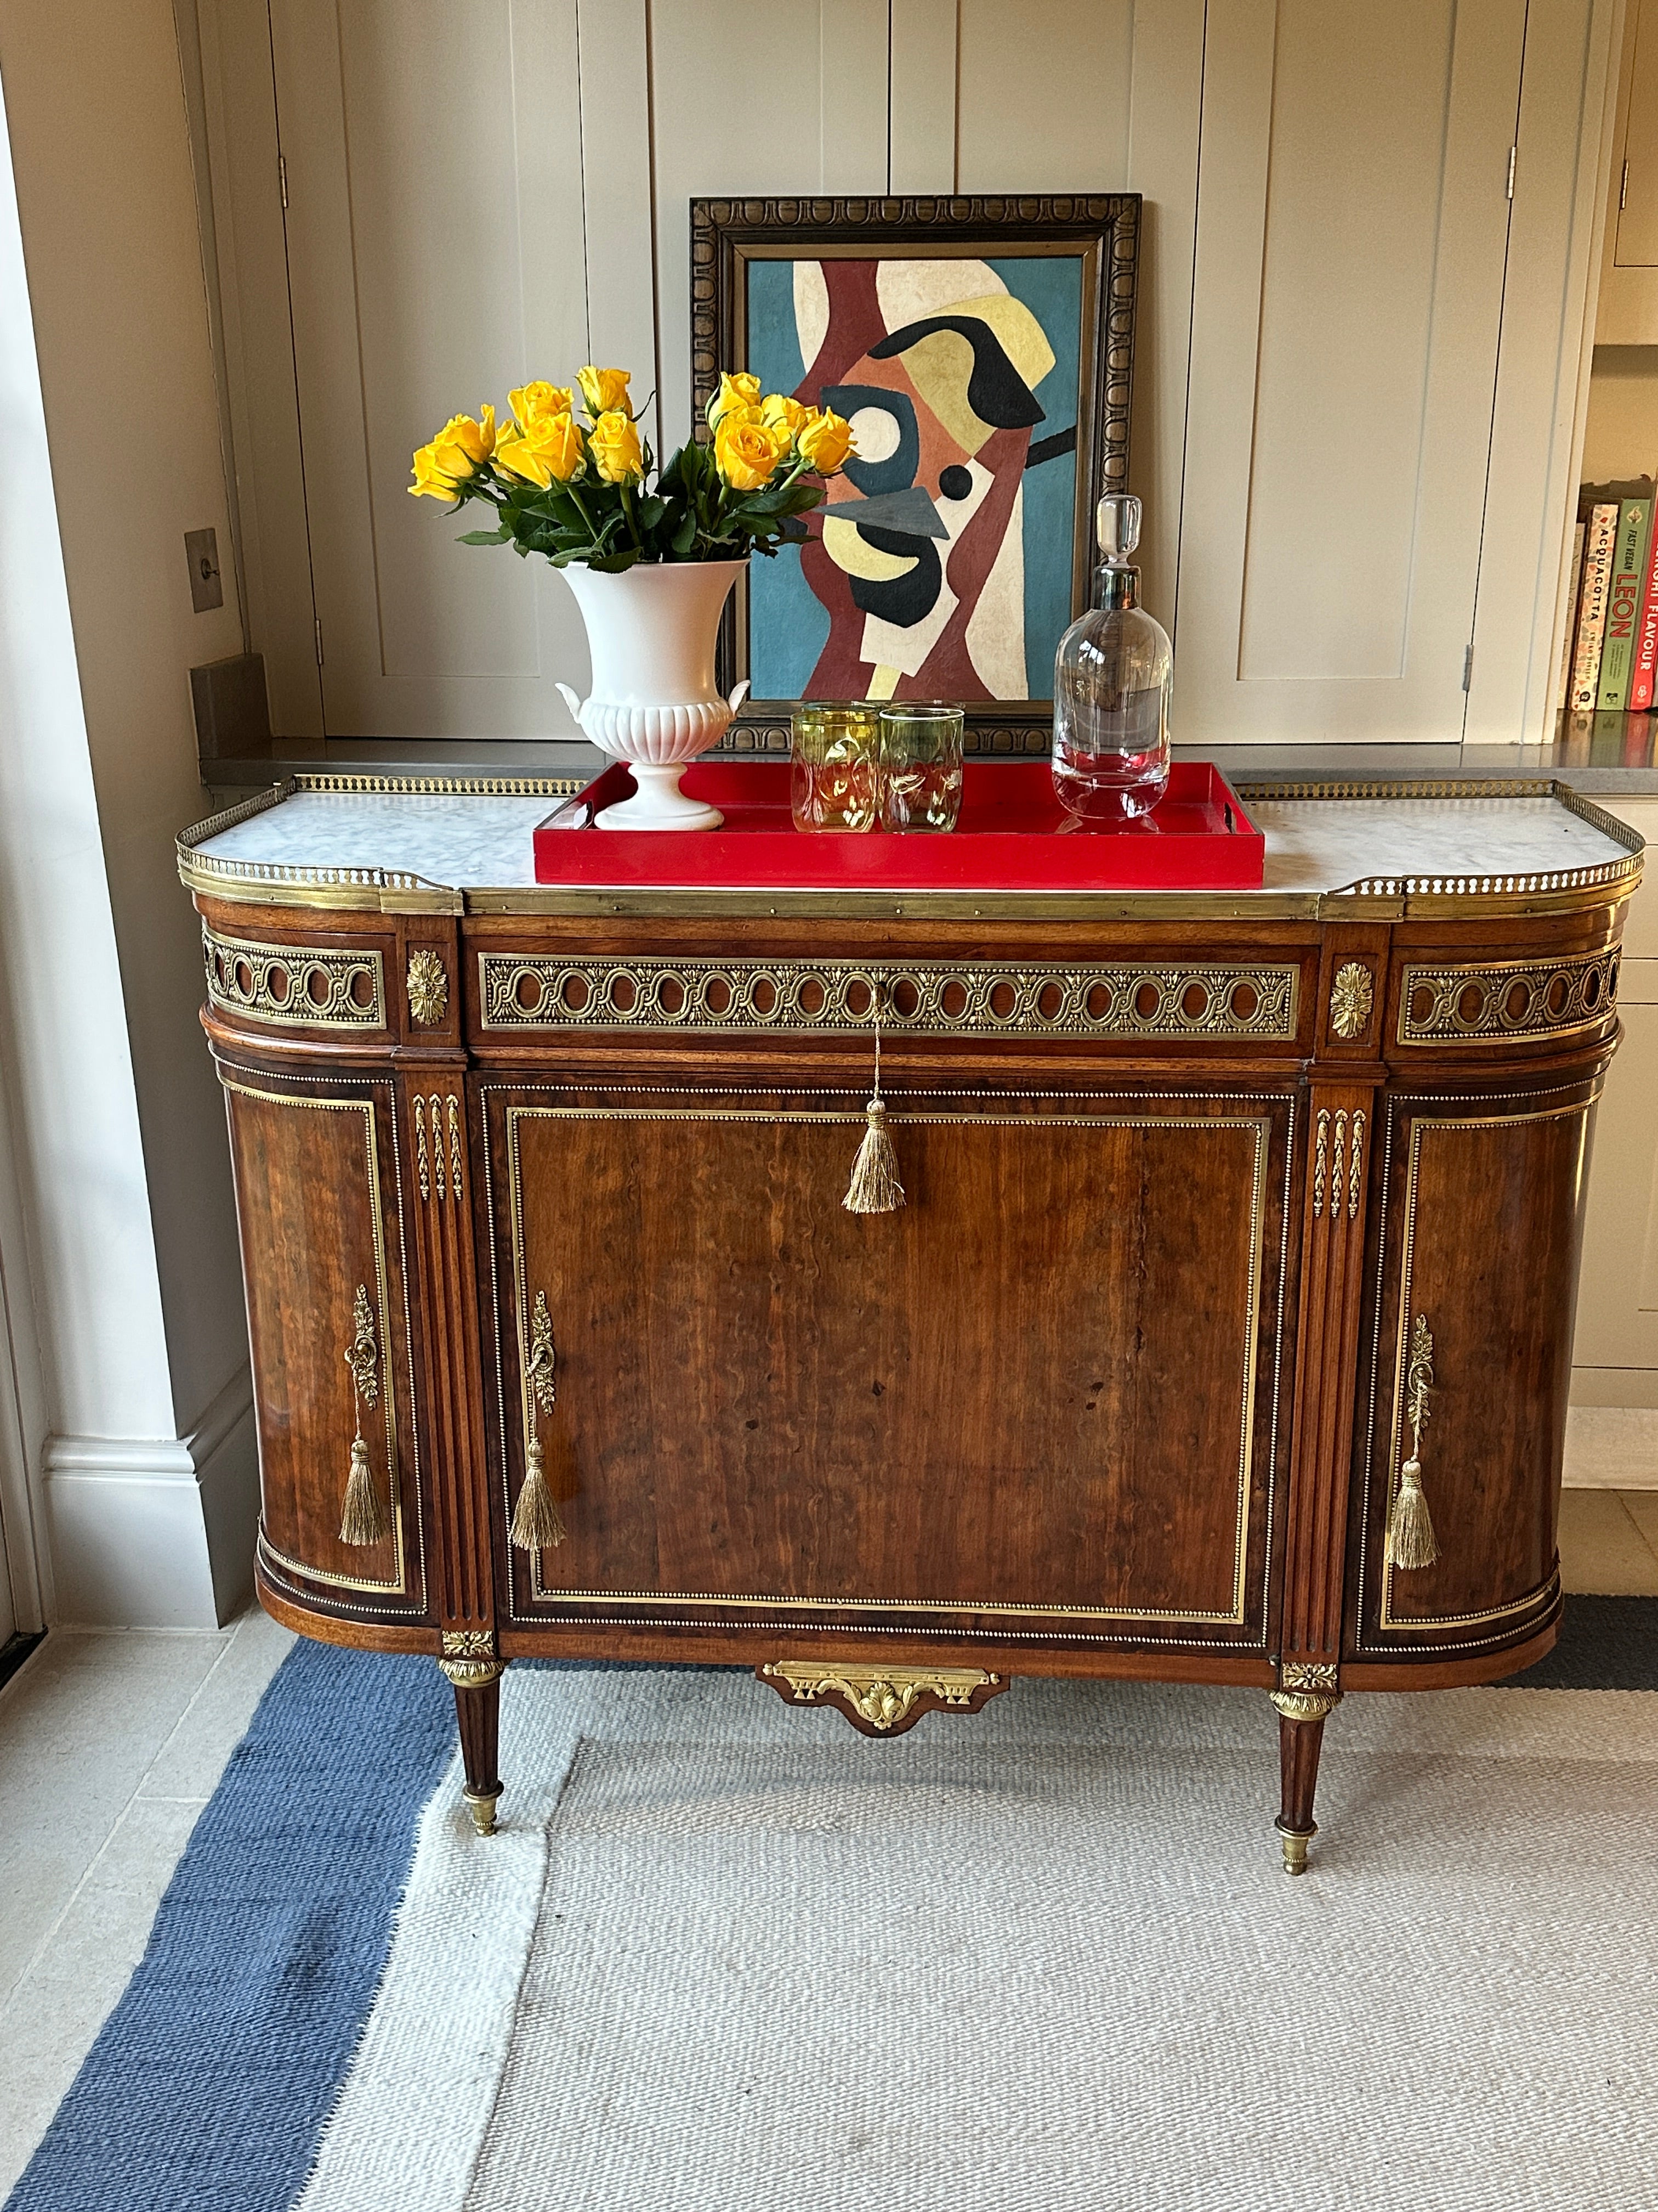
[[[869,1736],[1253,1683],[1300,1871],[1344,1692],[1554,1641],[1640,841],[1247,787],[1262,891],[559,891],[562,790],[296,776],[181,838],[265,1608],[433,1655],[484,1834],[515,1657]],[[906,1203],[858,1217],[878,1015]]]

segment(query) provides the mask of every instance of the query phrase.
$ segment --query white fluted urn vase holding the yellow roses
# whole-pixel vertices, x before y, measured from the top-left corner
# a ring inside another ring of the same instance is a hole
[[[725,734],[747,697],[714,690],[714,639],[732,584],[747,562],[637,562],[606,575],[564,571],[588,626],[592,692],[577,701],[559,684],[581,734],[632,768],[632,799],[599,814],[601,830],[718,830],[718,807],[679,787],[685,761]]]

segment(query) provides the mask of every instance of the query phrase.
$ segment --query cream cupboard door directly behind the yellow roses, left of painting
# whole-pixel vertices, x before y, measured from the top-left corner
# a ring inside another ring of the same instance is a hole
[[[568,586],[407,484],[449,414],[588,358],[575,0],[270,0],[270,35],[325,730],[568,730]]]

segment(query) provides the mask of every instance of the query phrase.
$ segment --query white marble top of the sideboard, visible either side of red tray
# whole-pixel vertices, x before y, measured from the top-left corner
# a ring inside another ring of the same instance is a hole
[[[301,790],[195,849],[281,869],[385,869],[460,891],[526,889],[531,832],[557,803]],[[1530,876],[1629,856],[1547,796],[1251,799],[1249,814],[1267,836],[1262,894],[1340,891],[1377,876]]]

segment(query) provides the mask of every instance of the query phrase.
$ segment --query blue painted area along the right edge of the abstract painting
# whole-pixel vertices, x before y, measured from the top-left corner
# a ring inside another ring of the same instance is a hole
[[[1037,385],[1048,414],[1030,438],[1077,427],[1083,343],[1083,263],[1074,254],[990,261],[1015,299],[1041,323],[1054,365]],[[1026,684],[1032,699],[1052,699],[1054,653],[1070,626],[1070,562],[1077,526],[1077,456],[1061,453],[1026,471]]]

